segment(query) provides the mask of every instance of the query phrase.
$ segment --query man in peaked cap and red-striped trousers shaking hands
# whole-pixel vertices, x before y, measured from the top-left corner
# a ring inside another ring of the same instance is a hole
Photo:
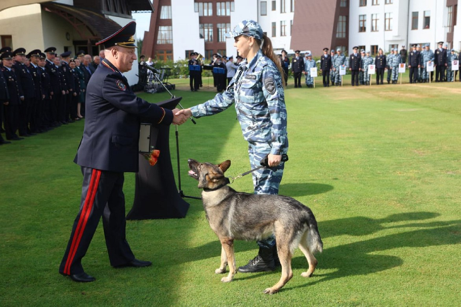
[[[101,216],[113,267],[152,264],[137,260],[125,238],[124,172],[138,171],[140,118],[162,125],[186,121],[174,115],[179,110],[165,110],[131,91],[123,73],[136,63],[135,31],[136,23],[130,22],[96,43],[104,44],[105,59],[87,87],[85,127],[74,159],[83,173],[81,205],[59,266],[60,274],[77,282],[95,280],[81,261]]]

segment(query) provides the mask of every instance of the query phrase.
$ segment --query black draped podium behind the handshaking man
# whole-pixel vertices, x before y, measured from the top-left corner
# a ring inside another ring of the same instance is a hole
[[[171,98],[157,105],[173,110],[181,100]],[[151,166],[139,157],[139,172],[136,173],[135,200],[127,220],[183,218],[189,203],[179,195],[173,175],[170,157],[170,126],[152,125],[151,144],[160,150],[157,164]],[[155,140],[156,137],[156,140]]]

